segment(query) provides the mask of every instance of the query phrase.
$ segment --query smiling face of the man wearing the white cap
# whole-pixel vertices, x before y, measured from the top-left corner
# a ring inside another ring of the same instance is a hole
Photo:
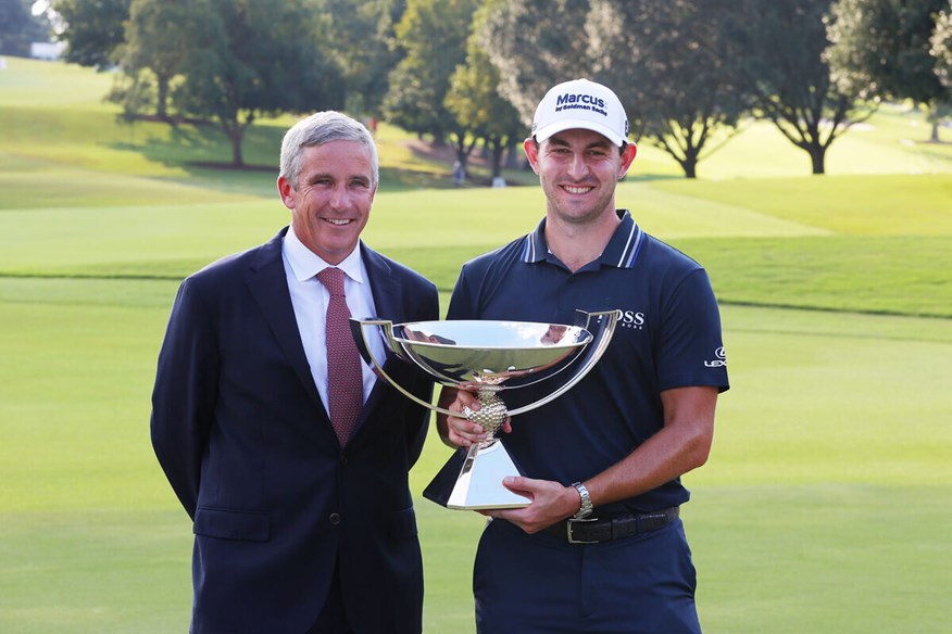
[[[619,155],[618,147],[598,132],[572,129],[538,145],[527,139],[524,147],[550,214],[572,224],[614,215],[615,186],[635,160],[635,145]]]

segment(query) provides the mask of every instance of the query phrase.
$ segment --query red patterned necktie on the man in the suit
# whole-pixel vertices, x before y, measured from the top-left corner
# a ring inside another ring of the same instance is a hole
[[[343,271],[328,267],[317,274],[317,280],[330,292],[327,304],[327,396],[330,422],[340,440],[347,444],[363,407],[364,390],[361,357],[350,333],[350,309],[343,294]]]

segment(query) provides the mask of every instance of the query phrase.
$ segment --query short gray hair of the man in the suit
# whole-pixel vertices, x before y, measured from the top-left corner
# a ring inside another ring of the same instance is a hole
[[[285,134],[285,139],[281,141],[280,176],[297,191],[304,148],[334,141],[356,141],[367,149],[374,172],[371,186],[377,187],[380,179],[380,162],[374,137],[362,123],[333,110],[314,113],[296,123]]]

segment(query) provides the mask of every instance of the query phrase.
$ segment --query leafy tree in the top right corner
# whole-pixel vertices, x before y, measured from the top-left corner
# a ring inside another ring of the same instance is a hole
[[[925,104],[934,141],[939,140],[940,107],[949,103],[929,39],[943,9],[949,10],[949,0],[838,0],[829,27],[830,64],[860,77],[877,98]]]

